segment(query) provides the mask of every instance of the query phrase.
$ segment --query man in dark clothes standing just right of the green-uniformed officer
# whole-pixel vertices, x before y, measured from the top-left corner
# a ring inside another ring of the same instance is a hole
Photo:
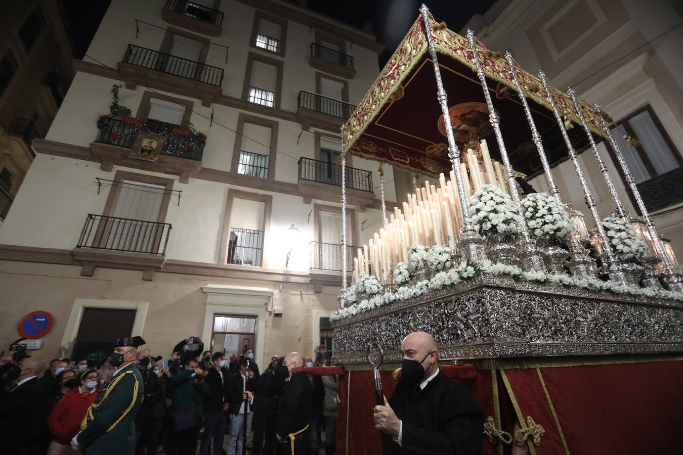
[[[150,351],[143,349],[137,353],[137,368],[142,375],[145,393],[142,396],[140,408],[135,416],[135,455],[154,455],[158,445],[159,435],[163,428],[163,420],[159,419],[157,403],[163,400],[159,378],[150,368]]]

